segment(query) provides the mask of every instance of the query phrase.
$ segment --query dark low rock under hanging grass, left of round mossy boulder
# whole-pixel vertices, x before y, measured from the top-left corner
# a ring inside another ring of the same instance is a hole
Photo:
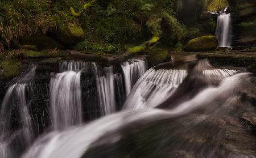
[[[61,45],[56,40],[53,40],[51,37],[38,35],[38,36],[25,36],[21,40],[24,45],[35,45],[38,50],[43,49],[64,49],[64,46]],[[34,50],[34,49],[32,49]]]

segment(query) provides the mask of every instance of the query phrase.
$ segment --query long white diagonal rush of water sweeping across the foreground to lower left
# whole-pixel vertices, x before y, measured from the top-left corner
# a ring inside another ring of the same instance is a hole
[[[232,95],[239,91],[238,87],[248,74],[238,74],[224,79],[219,87],[209,87],[193,99],[186,101],[172,110],[146,109],[133,112],[120,112],[91,122],[84,127],[77,127],[74,130],[64,133],[51,133],[39,139],[31,149],[23,155],[24,158],[55,158],[55,157],[81,157],[89,146],[109,133],[110,131],[121,130],[129,123],[142,121],[148,123],[164,118],[171,118],[191,112],[200,106],[212,106],[210,103],[219,100],[221,96]],[[205,100],[207,99],[207,100]],[[115,134],[111,139],[112,143],[117,142],[120,136]]]

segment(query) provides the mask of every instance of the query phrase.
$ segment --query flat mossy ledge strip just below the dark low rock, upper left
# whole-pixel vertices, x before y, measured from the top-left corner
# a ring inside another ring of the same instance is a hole
[[[36,52],[34,50],[22,50],[24,58],[35,59],[35,58],[53,58],[53,57],[65,57],[65,51],[62,50],[42,50]]]

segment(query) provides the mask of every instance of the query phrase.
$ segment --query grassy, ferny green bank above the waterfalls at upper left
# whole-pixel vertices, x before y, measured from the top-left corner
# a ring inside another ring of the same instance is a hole
[[[41,34],[67,48],[77,44],[78,50],[109,54],[129,44],[141,43],[128,52],[150,49],[158,42],[184,45],[189,30],[178,20],[182,5],[178,0],[2,0],[0,53],[17,39]]]

